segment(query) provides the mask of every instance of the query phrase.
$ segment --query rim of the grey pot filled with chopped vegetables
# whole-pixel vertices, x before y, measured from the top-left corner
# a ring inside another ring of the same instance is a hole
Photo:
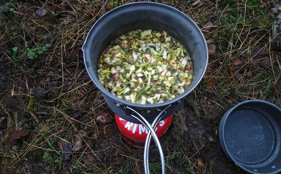
[[[119,7],[116,7],[112,10],[110,10],[109,12],[107,12],[106,14],[104,14],[102,17],[100,17],[95,23],[94,25],[91,27],[91,29],[89,30],[87,36],[86,36],[86,39],[85,39],[85,42],[82,46],[82,51],[83,51],[83,58],[84,58],[84,63],[86,65],[86,57],[85,57],[85,50],[86,50],[86,45],[87,45],[87,39],[89,37],[89,33],[91,33],[92,30],[95,29],[96,25],[99,25],[99,23],[105,18],[107,17],[108,15],[110,15],[111,13],[114,13],[116,10],[120,10],[121,8],[124,8],[124,7],[127,7],[129,8],[129,6],[135,6],[135,5],[138,5],[138,4],[149,4],[149,5],[156,5],[156,6],[163,6],[163,7],[166,7],[166,8],[170,8],[171,10],[174,10],[175,12],[177,13],[180,13],[181,15],[184,15],[185,18],[187,18],[187,20],[190,20],[191,23],[194,24],[195,28],[197,28],[197,31],[199,32],[201,38],[205,41],[203,43],[203,46],[205,48],[205,52],[206,52],[206,65],[204,67],[204,71],[201,75],[201,77],[199,78],[199,80],[196,82],[196,84],[194,85],[194,87],[192,88],[187,88],[185,90],[185,92],[183,92],[182,94],[176,96],[174,99],[170,99],[170,100],[167,100],[165,102],[162,102],[162,103],[157,103],[157,104],[136,104],[136,103],[131,103],[131,102],[127,102],[126,100],[123,100],[123,99],[120,99],[118,97],[116,97],[115,95],[111,94],[107,89],[105,89],[103,87],[103,85],[101,85],[99,82],[98,84],[96,84],[95,82],[95,78],[97,79],[97,76],[95,77],[92,77],[88,71],[88,67],[86,67],[86,70],[88,72],[88,75],[90,76],[91,80],[94,82],[94,84],[101,90],[102,93],[105,93],[107,96],[109,96],[112,100],[116,101],[116,103],[120,103],[120,104],[124,104],[126,106],[131,106],[131,107],[135,107],[135,108],[143,108],[143,109],[150,109],[150,108],[159,108],[159,107],[164,107],[164,106],[167,106],[169,104],[173,104],[181,99],[184,99],[186,95],[188,95],[192,90],[194,90],[196,88],[196,86],[200,83],[200,81],[202,80],[204,74],[205,74],[205,71],[207,69],[207,65],[208,65],[208,46],[207,46],[207,42],[205,40],[205,37],[202,33],[202,31],[200,30],[200,28],[197,26],[197,24],[190,18],[188,17],[185,13],[181,12],[180,10],[174,8],[174,7],[171,7],[171,6],[168,6],[168,5],[165,5],[165,4],[161,4],[161,3],[157,3],[157,2],[133,2],[133,3],[128,3],[128,4],[125,4],[125,5],[121,5]],[[98,81],[98,79],[97,79]]]

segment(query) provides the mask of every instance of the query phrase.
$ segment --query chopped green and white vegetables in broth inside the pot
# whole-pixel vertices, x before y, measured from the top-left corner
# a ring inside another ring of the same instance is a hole
[[[192,62],[180,42],[165,31],[130,31],[112,41],[103,52],[98,78],[120,99],[156,104],[188,88]]]

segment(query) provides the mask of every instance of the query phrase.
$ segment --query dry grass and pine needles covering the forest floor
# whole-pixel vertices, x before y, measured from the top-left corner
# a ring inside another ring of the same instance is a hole
[[[143,173],[142,150],[122,140],[115,123],[96,124],[98,111],[109,109],[86,73],[81,52],[93,23],[129,2],[10,0],[0,4],[1,9],[7,7],[3,14],[0,11],[0,118],[6,117],[0,123],[1,173]],[[164,142],[168,173],[221,173],[214,166],[218,163],[225,168],[230,164],[229,173],[240,173],[230,161],[221,164],[225,159],[209,151],[221,152],[217,130],[230,107],[249,99],[281,105],[280,54],[271,50],[270,42],[274,16],[269,9],[276,2],[202,0],[195,6],[191,6],[195,1],[160,2],[190,16],[202,28],[208,45],[216,48],[204,79],[185,101],[192,110],[185,120],[191,128],[184,132],[180,125],[172,125],[168,138],[176,144]],[[40,8],[47,10],[44,17],[36,15]],[[211,30],[204,28],[208,21]],[[52,46],[38,54],[47,43]],[[29,59],[32,52],[27,48],[38,48],[32,51],[38,57]],[[239,65],[234,63],[237,60]],[[36,99],[32,89],[38,87],[48,90],[49,96]],[[11,134],[22,128],[29,135],[11,141]],[[194,134],[192,128],[205,132]],[[65,162],[62,145],[74,143],[77,134],[83,137],[82,148]],[[151,172],[159,173],[156,150],[151,156]]]

